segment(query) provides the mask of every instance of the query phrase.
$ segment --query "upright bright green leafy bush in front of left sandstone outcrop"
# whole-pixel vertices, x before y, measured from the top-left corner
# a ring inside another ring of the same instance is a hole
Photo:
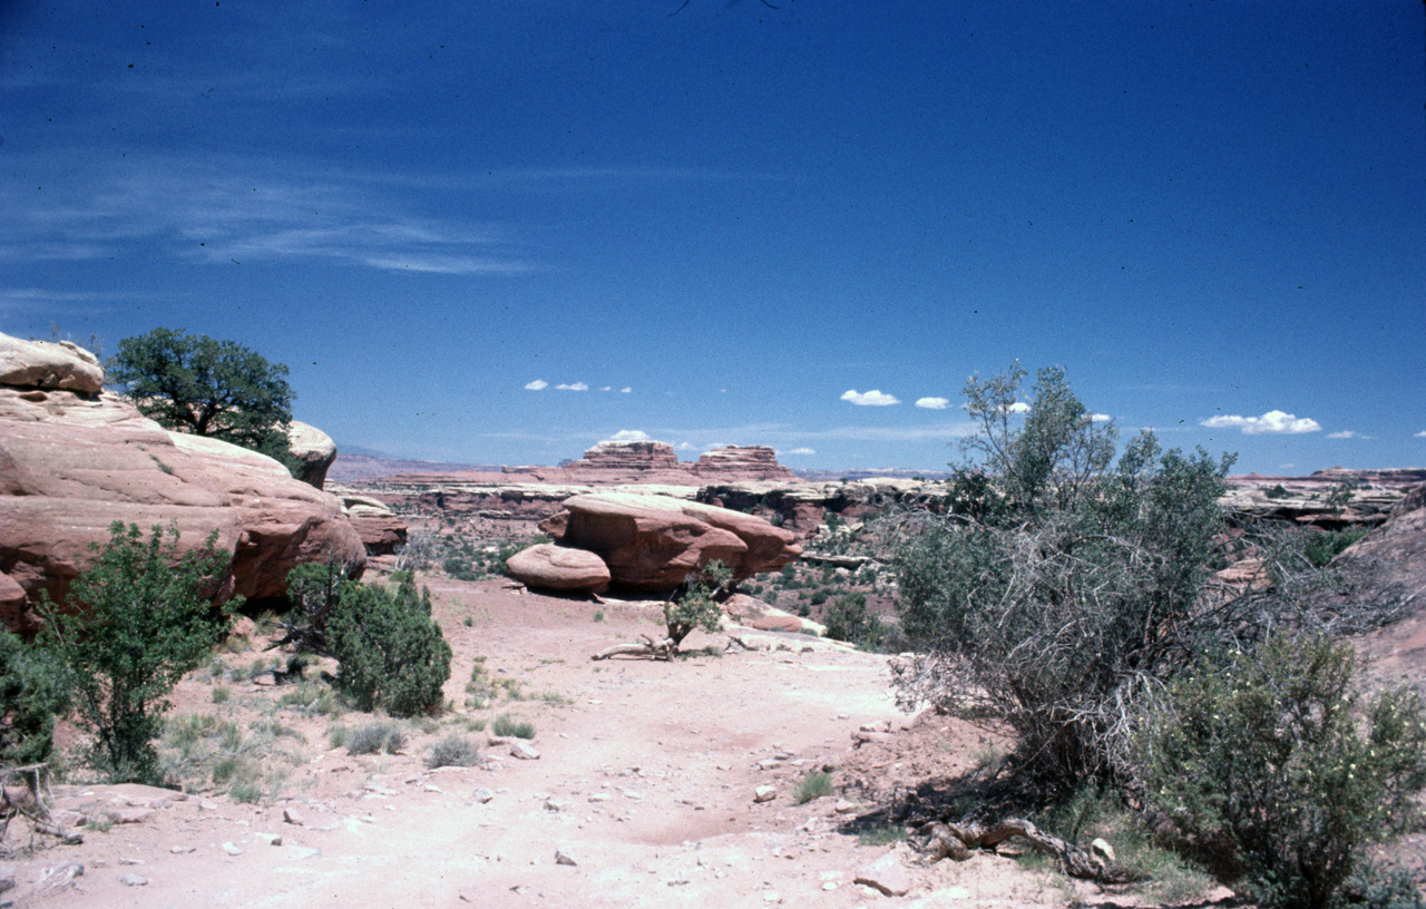
[[[228,607],[208,598],[228,567],[217,536],[180,554],[177,529],[154,527],[145,540],[137,524],[116,521],[74,580],[68,608],[41,606],[41,643],[64,671],[76,721],[94,737],[93,765],[113,782],[163,782],[153,741],[165,698],[228,623]]]

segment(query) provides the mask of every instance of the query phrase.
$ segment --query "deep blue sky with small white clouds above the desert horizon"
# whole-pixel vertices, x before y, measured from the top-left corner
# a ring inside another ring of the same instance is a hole
[[[0,1],[0,331],[230,338],[436,460],[937,469],[1018,359],[1426,463],[1420,3],[777,6]]]

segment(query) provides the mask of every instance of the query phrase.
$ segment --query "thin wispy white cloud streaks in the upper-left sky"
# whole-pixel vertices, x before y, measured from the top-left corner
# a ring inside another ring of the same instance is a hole
[[[46,167],[36,164],[41,174]],[[77,172],[73,180],[37,177],[30,188],[0,187],[11,225],[0,237],[0,261],[86,261],[144,249],[198,262],[327,259],[442,275],[539,269],[516,252],[509,228],[425,217],[412,188],[365,175],[238,157],[135,157]]]

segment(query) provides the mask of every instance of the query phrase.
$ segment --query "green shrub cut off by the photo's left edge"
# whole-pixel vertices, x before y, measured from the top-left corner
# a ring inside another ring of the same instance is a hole
[[[0,627],[0,765],[48,761],[54,717],[67,705],[60,668]]]

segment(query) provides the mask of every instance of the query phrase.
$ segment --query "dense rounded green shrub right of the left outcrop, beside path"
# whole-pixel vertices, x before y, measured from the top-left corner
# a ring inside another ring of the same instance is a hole
[[[431,591],[406,576],[396,590],[347,581],[327,621],[338,684],[356,708],[392,717],[441,710],[451,645],[431,618]]]

